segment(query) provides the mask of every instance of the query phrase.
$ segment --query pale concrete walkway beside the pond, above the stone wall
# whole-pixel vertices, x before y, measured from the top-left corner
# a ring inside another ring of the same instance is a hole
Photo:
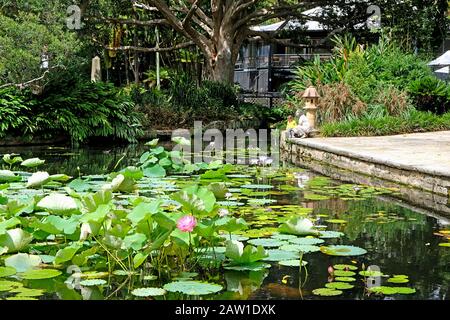
[[[450,177],[450,131],[292,141],[305,147],[371,163]]]

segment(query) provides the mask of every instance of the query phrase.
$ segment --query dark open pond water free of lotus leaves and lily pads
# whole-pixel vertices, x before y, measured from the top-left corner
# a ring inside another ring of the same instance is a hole
[[[145,147],[128,146],[115,148],[90,147],[70,149],[59,147],[17,147],[0,148],[3,153],[15,152],[24,159],[39,157],[46,160],[41,169],[49,173],[66,173],[78,176],[110,172],[116,165],[123,167],[135,164]],[[79,169],[78,169],[79,168]],[[315,174],[304,173],[304,179],[312,179]],[[303,181],[304,182],[304,181]],[[276,182],[279,183],[279,182]],[[283,182],[295,185],[295,179]],[[450,248],[441,247],[445,240],[434,235],[439,230],[449,229],[449,219],[437,219],[404,208],[394,201],[381,199],[341,200],[331,199],[310,201],[304,199],[303,191],[289,195],[273,195],[276,205],[301,205],[313,209],[313,216],[324,216],[318,224],[328,219],[343,219],[345,224],[332,224],[329,229],[341,231],[345,236],[327,241],[329,244],[351,244],[365,248],[368,253],[359,257],[331,257],[320,253],[305,254],[308,261],[308,275],[300,274],[298,268],[273,264],[268,274],[264,272],[226,271],[222,279],[228,291],[216,296],[221,299],[327,299],[312,295],[312,290],[322,288],[328,282],[328,267],[336,263],[346,263],[366,267],[376,265],[388,275],[408,275],[407,284],[417,290],[412,295],[384,296],[381,299],[450,299]],[[327,217],[325,217],[325,215]],[[389,219],[379,219],[389,217]],[[305,278],[306,277],[306,278]],[[392,285],[381,278],[382,285]],[[283,281],[284,280],[284,281]],[[345,291],[333,299],[380,299],[365,294],[365,283],[358,277],[355,288]],[[299,282],[305,281],[301,289]],[[117,280],[116,286],[120,285]],[[131,298],[130,285],[117,291],[115,299]],[[86,289],[87,290],[87,289]],[[89,299],[103,299],[110,292],[89,288],[84,295]],[[111,291],[114,291],[112,289]],[[62,290],[64,292],[64,290]],[[62,293],[53,298],[61,298]],[[52,297],[48,297],[52,298]]]

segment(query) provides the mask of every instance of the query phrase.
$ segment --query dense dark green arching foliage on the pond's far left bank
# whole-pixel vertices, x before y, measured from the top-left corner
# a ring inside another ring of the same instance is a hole
[[[73,142],[112,137],[135,142],[142,134],[131,98],[110,83],[52,83],[41,96],[0,91],[0,137],[67,136]]]

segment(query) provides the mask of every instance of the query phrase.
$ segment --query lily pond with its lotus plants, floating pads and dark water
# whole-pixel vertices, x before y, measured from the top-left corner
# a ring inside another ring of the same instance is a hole
[[[45,163],[0,167],[2,299],[450,297],[450,220],[395,189],[156,145],[6,153]]]

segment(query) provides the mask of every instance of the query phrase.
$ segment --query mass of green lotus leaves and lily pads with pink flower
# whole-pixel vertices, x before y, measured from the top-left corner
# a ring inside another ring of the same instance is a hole
[[[311,208],[300,205],[278,205],[272,196],[303,190],[308,201],[363,200],[395,192],[333,185],[325,177],[308,180],[301,169],[191,164],[157,144],[148,143],[136,166],[75,179],[38,171],[44,163],[38,158],[4,155],[0,298],[36,299],[54,292],[57,296],[50,297],[75,299],[81,292],[86,298],[86,292],[92,294],[87,288],[108,291],[106,298],[113,298],[127,283],[135,298],[242,293],[236,279],[225,279],[224,286],[222,270],[246,274],[257,288],[274,264],[297,268],[307,281],[308,269],[314,268],[304,259],[308,255],[356,259],[367,250],[338,244],[344,233],[319,224],[346,220],[313,216]],[[274,186],[292,179],[297,185]],[[396,221],[386,216],[383,223]],[[314,295],[341,295],[355,287],[357,277],[364,283],[388,278],[384,286],[367,287],[367,294],[415,292],[404,285],[408,276],[375,274],[356,260],[330,266],[328,272],[330,282]],[[116,288],[111,279],[117,278],[123,281]],[[136,278],[140,285],[133,286]]]

